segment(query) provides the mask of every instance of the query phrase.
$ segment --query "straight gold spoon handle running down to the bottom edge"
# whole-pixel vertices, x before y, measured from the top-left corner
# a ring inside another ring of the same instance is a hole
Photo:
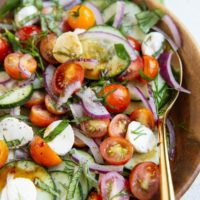
[[[168,147],[166,129],[164,126],[165,120],[158,124],[158,135],[160,141],[160,189],[161,200],[175,200],[174,188],[172,183],[172,176],[169,164]]]

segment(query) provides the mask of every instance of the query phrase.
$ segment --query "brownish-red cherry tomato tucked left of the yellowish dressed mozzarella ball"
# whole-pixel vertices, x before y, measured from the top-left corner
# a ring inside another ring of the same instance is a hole
[[[57,36],[54,33],[48,34],[40,42],[40,53],[42,57],[51,64],[58,64],[53,56],[53,47],[56,43]]]

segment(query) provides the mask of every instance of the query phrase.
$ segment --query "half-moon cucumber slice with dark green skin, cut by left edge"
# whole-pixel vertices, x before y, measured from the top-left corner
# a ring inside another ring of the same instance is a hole
[[[32,85],[10,90],[0,97],[0,109],[21,106],[31,98],[32,93]]]

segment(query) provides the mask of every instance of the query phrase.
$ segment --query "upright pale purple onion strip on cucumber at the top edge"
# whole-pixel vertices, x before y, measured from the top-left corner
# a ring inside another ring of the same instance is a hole
[[[118,1],[117,8],[116,8],[116,15],[113,22],[113,27],[115,28],[120,27],[122,20],[124,18],[124,13],[125,13],[125,3],[123,1]]]

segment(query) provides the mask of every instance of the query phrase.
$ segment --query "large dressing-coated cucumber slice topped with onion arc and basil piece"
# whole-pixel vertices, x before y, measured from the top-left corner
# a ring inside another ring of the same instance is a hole
[[[94,69],[85,71],[88,79],[98,80],[102,72],[108,77],[117,76],[130,65],[130,56],[135,56],[126,40],[110,33],[88,31],[80,34],[79,39],[83,47],[82,56],[99,61]]]

